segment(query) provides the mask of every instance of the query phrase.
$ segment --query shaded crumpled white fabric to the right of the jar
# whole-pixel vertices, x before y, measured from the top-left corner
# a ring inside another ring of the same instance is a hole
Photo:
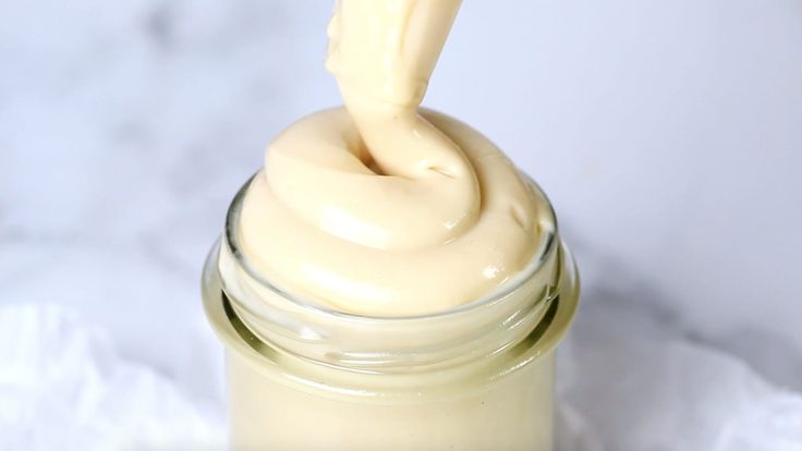
[[[637,301],[590,292],[560,349],[560,451],[802,451],[800,393]]]

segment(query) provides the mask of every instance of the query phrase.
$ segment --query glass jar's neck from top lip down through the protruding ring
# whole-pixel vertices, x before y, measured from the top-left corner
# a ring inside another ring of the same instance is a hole
[[[375,317],[297,298],[262,278],[239,247],[236,221],[244,191],[234,198],[226,234],[207,261],[205,280],[216,283],[205,283],[204,289],[212,324],[227,322],[218,332],[228,334],[229,346],[254,358],[280,361],[282,367],[295,366],[301,373],[325,367],[384,375],[382,383],[391,383],[386,376],[396,375],[400,386],[410,375],[427,374],[443,381],[477,374],[496,377],[550,351],[573,316],[575,270],[554,221],[542,226],[540,247],[517,277],[496,292],[447,312]],[[508,363],[494,364],[498,361]],[[488,373],[489,367],[495,369]]]

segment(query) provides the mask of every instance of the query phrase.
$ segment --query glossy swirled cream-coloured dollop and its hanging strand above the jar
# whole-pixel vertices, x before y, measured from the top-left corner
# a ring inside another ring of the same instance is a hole
[[[487,138],[420,109],[458,0],[341,0],[328,69],[344,108],[301,119],[247,188],[245,257],[327,307],[421,315],[474,301],[532,258],[532,186]]]

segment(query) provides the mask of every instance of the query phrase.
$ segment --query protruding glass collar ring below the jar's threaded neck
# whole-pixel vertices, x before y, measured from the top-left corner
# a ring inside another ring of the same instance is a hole
[[[556,284],[554,285],[555,291],[551,294],[546,294],[544,297],[533,297],[536,305],[543,308],[539,312],[528,310],[524,315],[531,318],[531,320],[527,320],[527,324],[532,325],[532,329],[530,330],[528,327],[526,330],[519,328],[520,332],[518,332],[517,339],[508,333],[506,341],[502,342],[505,338],[501,338],[499,332],[512,331],[512,334],[515,334],[517,332],[513,331],[515,327],[511,326],[507,320],[498,322],[507,325],[507,327],[502,328],[503,331],[497,329],[493,332],[498,337],[494,343],[501,343],[502,345],[500,348],[493,348],[491,352],[482,354],[483,356],[477,358],[478,354],[476,354],[473,344],[471,344],[470,348],[472,351],[469,353],[449,353],[446,355],[446,358],[436,359],[440,363],[457,362],[457,366],[429,366],[432,362],[423,362],[425,366],[420,366],[420,369],[434,373],[427,373],[430,376],[426,379],[427,382],[422,385],[423,379],[417,378],[422,374],[421,370],[417,373],[409,371],[410,367],[418,367],[422,364],[420,361],[402,362],[399,359],[406,367],[406,370],[400,373],[394,371],[393,367],[387,366],[364,365],[361,363],[356,365],[349,363],[340,365],[338,362],[331,361],[332,354],[326,354],[325,359],[316,358],[314,355],[296,352],[297,350],[293,348],[294,344],[290,348],[281,345],[274,340],[276,336],[265,337],[252,329],[250,322],[235,310],[235,304],[232,303],[233,300],[226,294],[226,290],[222,287],[222,279],[217,265],[220,252],[222,252],[222,241],[223,239],[221,237],[215,243],[206,258],[202,279],[202,292],[207,318],[212,329],[226,345],[227,353],[231,352],[238,358],[243,358],[243,362],[247,362],[254,370],[259,371],[265,377],[281,380],[282,383],[291,383],[304,390],[325,392],[336,397],[342,395],[349,398],[356,395],[359,398],[381,399],[388,402],[390,400],[394,400],[392,402],[404,402],[408,399],[417,399],[422,390],[426,390],[427,393],[434,393],[433,395],[448,395],[448,393],[453,393],[454,390],[458,390],[458,387],[463,387],[454,383],[458,380],[471,380],[473,381],[471,382],[473,383],[471,387],[479,387],[498,378],[506,377],[535,359],[549,355],[554,351],[555,346],[557,346],[573,322],[579,303],[580,287],[576,267],[570,251],[566,247],[564,243],[558,241],[557,265],[559,270],[557,280],[555,281]],[[494,307],[500,307],[501,305],[497,304]],[[518,321],[520,326],[523,324],[523,318],[518,315],[519,312],[522,310],[517,308],[512,317],[521,319],[521,321]],[[408,325],[409,322],[404,322],[401,326],[405,327]],[[381,324],[378,326],[377,329],[379,331],[393,329],[381,327],[384,326]],[[486,331],[479,334],[484,333]],[[438,337],[442,336],[438,334]],[[467,338],[471,339],[471,337]],[[329,340],[329,338],[326,340]],[[311,344],[306,340],[301,340],[297,343],[302,342]],[[406,341],[401,342],[406,343]],[[467,342],[472,341],[467,340]],[[342,344],[342,342],[340,343]],[[333,344],[337,345],[337,343]],[[495,344],[493,345],[495,346]],[[447,345],[446,348],[451,350],[451,345]],[[401,353],[391,351],[391,353],[396,353],[401,357],[406,355],[420,356],[420,353],[414,352],[420,349],[420,346],[414,345],[412,354],[405,353],[405,351],[410,350],[401,350]],[[288,351],[289,354],[287,353]],[[283,355],[284,357],[279,358],[279,355]],[[454,356],[458,357],[459,362],[453,359]],[[460,356],[466,357],[466,359],[460,359]],[[463,368],[467,369],[463,370]],[[321,370],[326,371],[326,378],[320,377],[319,371]],[[359,379],[354,379],[353,377],[359,377]]]

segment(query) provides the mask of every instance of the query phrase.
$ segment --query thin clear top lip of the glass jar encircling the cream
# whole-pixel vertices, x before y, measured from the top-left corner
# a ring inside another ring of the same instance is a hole
[[[533,253],[532,258],[526,264],[526,266],[523,267],[520,271],[515,272],[513,276],[511,276],[508,280],[502,282],[499,287],[497,287],[495,290],[490,291],[489,293],[486,293],[471,302],[457,305],[452,308],[447,308],[445,310],[438,310],[438,312],[432,312],[426,314],[420,314],[420,315],[400,315],[400,316],[380,316],[380,315],[366,315],[366,314],[355,314],[355,313],[349,313],[349,312],[341,312],[337,310],[324,305],[320,305],[319,303],[309,301],[304,298],[303,296],[299,296],[295,294],[292,294],[288,292],[287,290],[281,289],[277,284],[272,283],[271,281],[267,280],[256,268],[252,263],[248,260],[245,253],[242,251],[242,247],[240,246],[239,236],[236,233],[236,224],[240,217],[240,214],[242,211],[242,204],[245,198],[245,195],[247,194],[247,190],[251,186],[253,180],[258,176],[262,173],[262,171],[257,171],[254,173],[248,180],[240,187],[234,198],[231,200],[231,204],[229,206],[229,209],[226,214],[226,232],[224,232],[224,240],[223,245],[226,245],[231,255],[234,257],[234,260],[238,265],[245,271],[245,273],[258,282],[263,288],[277,293],[284,300],[291,302],[293,305],[302,308],[303,310],[311,313],[313,315],[324,316],[324,317],[330,317],[336,318],[338,320],[345,320],[345,321],[356,321],[356,322],[385,322],[385,324],[394,324],[394,322],[405,322],[405,321],[413,321],[413,320],[427,320],[433,318],[441,318],[441,317],[448,317],[452,315],[460,315],[464,313],[469,313],[472,310],[479,309],[485,306],[497,304],[498,302],[506,298],[510,293],[518,290],[523,283],[525,283],[530,278],[532,278],[535,273],[537,273],[540,268],[545,265],[548,257],[556,252],[559,240],[557,236],[557,216],[554,210],[554,206],[551,202],[546,196],[545,192],[540,188],[540,186],[532,180],[527,174],[523,172],[519,172],[521,176],[525,180],[526,183],[528,183],[534,190],[537,196],[542,197],[543,205],[547,208],[545,211],[546,217],[548,221],[540,222],[540,239],[538,240],[538,246],[537,249]]]

